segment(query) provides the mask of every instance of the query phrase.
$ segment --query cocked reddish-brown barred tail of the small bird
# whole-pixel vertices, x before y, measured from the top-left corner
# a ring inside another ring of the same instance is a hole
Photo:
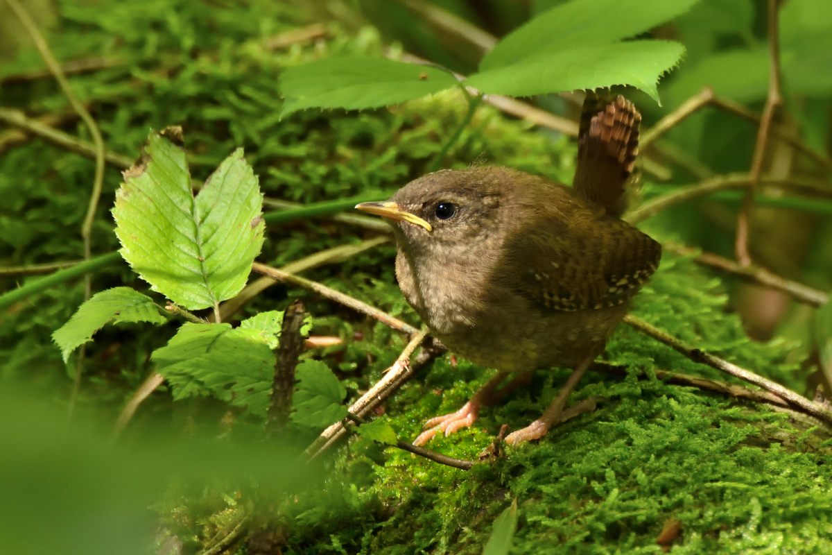
[[[622,96],[615,100],[588,92],[577,136],[577,168],[572,186],[611,216],[626,208],[624,186],[638,155],[641,114]]]

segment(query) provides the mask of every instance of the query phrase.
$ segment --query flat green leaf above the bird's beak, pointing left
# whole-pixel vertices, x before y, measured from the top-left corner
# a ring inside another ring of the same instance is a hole
[[[455,87],[457,80],[436,67],[359,56],[331,57],[285,69],[280,116],[304,108],[361,110],[398,104]]]

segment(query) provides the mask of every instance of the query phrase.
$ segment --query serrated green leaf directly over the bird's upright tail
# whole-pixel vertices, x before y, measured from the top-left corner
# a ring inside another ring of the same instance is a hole
[[[678,42],[592,44],[475,73],[465,84],[481,92],[513,97],[632,85],[659,102],[656,83],[662,73],[676,66],[683,52],[685,48]]]

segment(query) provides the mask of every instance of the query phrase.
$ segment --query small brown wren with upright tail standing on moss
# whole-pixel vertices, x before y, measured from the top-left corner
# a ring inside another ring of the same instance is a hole
[[[541,438],[656,270],[661,246],[621,221],[641,116],[623,97],[584,102],[573,187],[504,167],[437,171],[361,211],[388,218],[405,298],[448,349],[498,369],[414,444],[470,426],[534,369],[574,369],[542,416],[509,434]],[[498,389],[509,373],[517,379]]]

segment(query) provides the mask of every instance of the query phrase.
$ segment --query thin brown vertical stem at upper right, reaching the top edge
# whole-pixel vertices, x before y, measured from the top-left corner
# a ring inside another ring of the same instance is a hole
[[[765,99],[765,107],[757,130],[757,142],[754,147],[754,158],[751,161],[751,184],[745,191],[740,214],[736,219],[736,260],[741,265],[751,264],[751,255],[748,250],[748,234],[750,226],[751,208],[754,206],[754,194],[760,188],[760,174],[763,171],[765,161],[765,150],[769,145],[769,131],[774,121],[775,111],[780,107],[780,40],[778,38],[777,17],[779,0],[769,0],[769,95]]]

